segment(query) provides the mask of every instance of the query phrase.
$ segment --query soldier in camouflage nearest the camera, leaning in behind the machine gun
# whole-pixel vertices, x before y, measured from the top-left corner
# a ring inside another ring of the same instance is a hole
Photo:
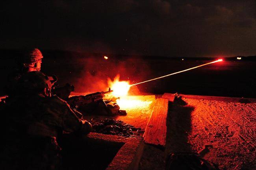
[[[91,124],[67,102],[52,96],[52,83],[42,72],[32,71],[19,79],[19,95],[6,102],[3,169],[58,169],[61,148],[58,136],[65,132],[87,135]]]

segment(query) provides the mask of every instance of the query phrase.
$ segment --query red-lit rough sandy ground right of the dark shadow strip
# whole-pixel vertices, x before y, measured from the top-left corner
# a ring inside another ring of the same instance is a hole
[[[256,169],[256,103],[185,99],[191,112],[188,142],[220,169]]]

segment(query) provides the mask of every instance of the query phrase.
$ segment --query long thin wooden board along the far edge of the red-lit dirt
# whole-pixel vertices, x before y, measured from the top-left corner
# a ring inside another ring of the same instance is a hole
[[[221,96],[199,96],[199,95],[189,95],[189,94],[179,94],[184,98],[192,98],[192,99],[204,99],[204,100],[217,100],[223,102],[234,102],[234,103],[256,103],[256,99],[254,98],[232,98],[232,97],[221,97]],[[169,98],[174,96],[172,93],[163,94],[163,98]]]

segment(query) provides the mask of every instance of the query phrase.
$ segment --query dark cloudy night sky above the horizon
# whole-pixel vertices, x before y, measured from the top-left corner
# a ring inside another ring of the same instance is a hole
[[[8,0],[0,16],[1,49],[256,55],[255,0]]]

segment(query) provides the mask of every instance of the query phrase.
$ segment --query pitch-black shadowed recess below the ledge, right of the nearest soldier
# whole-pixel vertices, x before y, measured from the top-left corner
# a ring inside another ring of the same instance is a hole
[[[63,170],[105,170],[123,145],[123,142],[63,135],[60,142]]]

